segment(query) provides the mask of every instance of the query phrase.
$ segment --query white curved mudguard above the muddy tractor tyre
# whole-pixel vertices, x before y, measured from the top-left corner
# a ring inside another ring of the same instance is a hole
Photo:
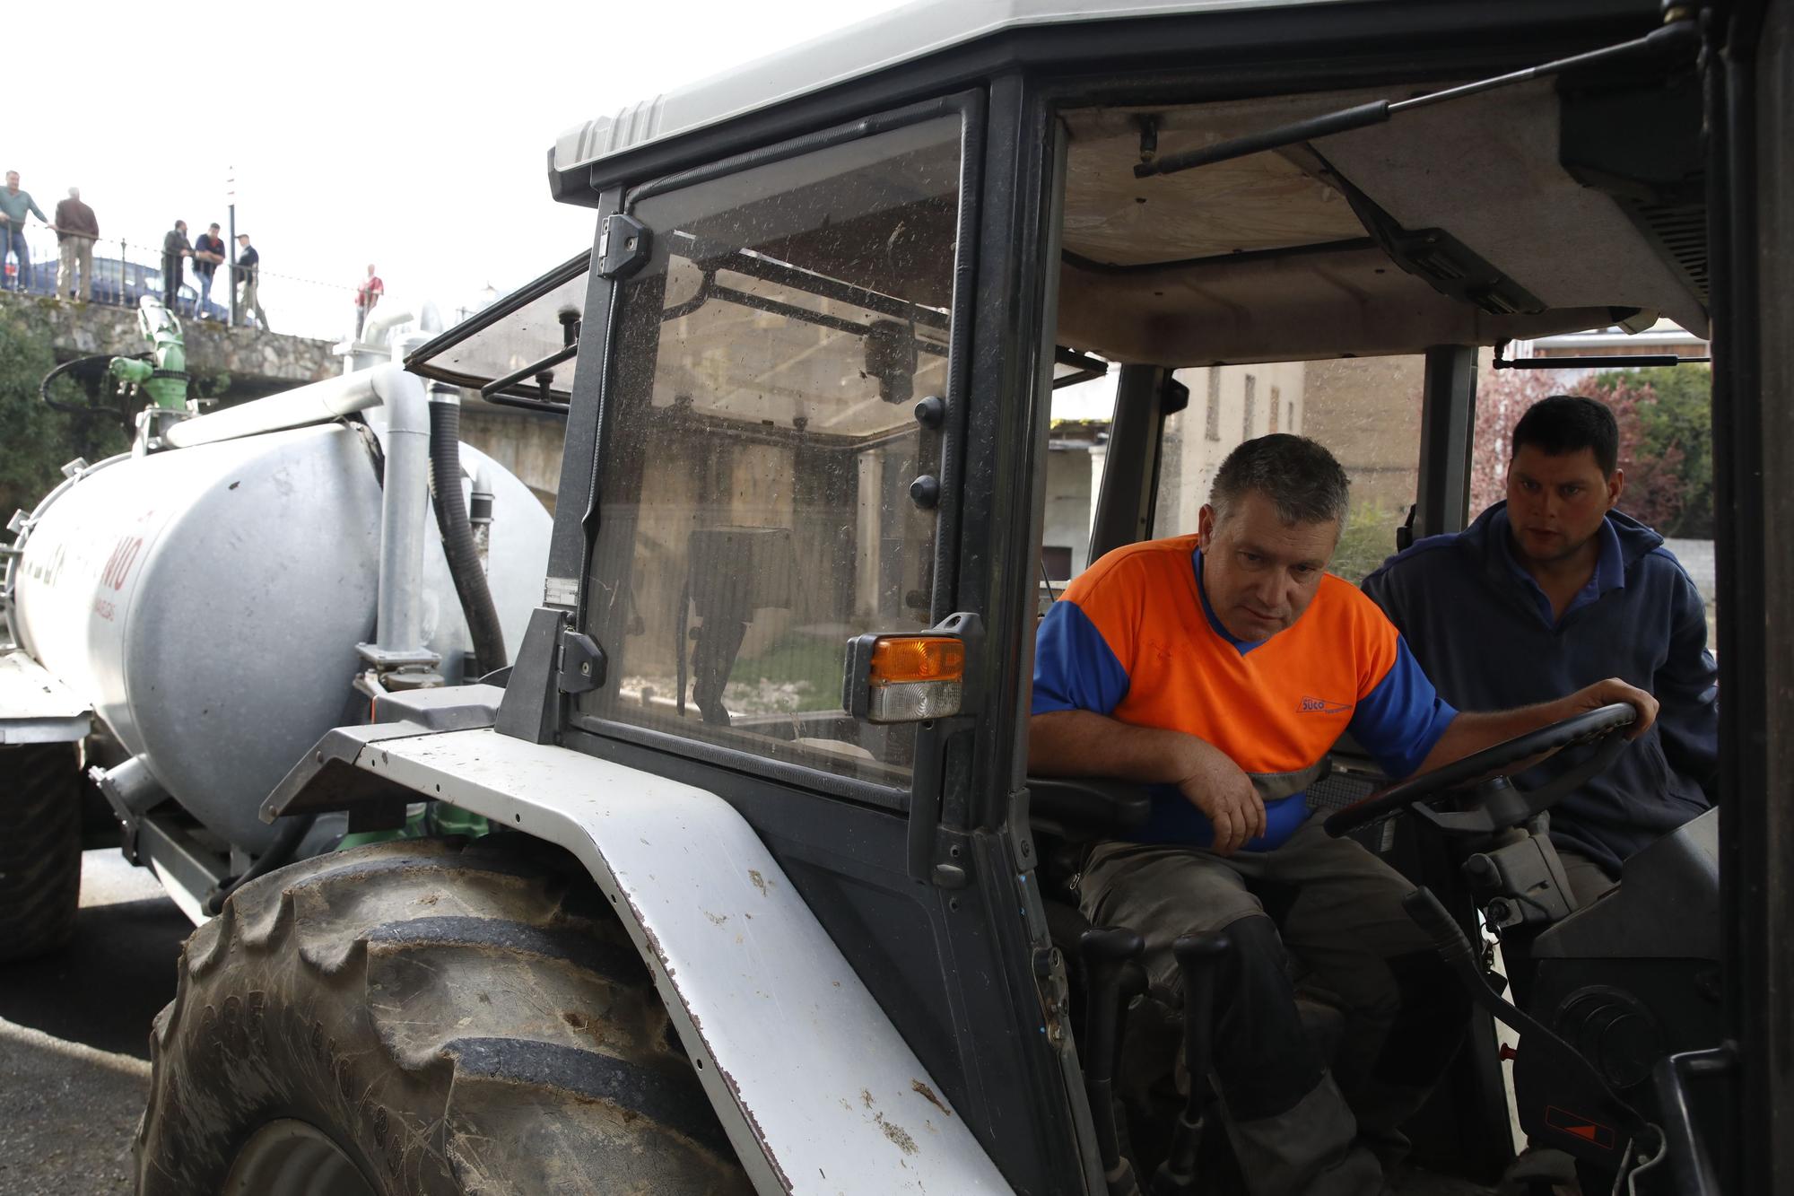
[[[264,817],[407,790],[585,864],[653,972],[759,1192],[1010,1191],[753,828],[716,794],[490,727],[389,722],[325,736]]]

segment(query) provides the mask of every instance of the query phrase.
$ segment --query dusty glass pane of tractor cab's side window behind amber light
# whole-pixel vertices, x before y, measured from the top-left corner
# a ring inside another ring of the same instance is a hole
[[[849,638],[929,625],[962,122],[651,196],[617,289],[581,713],[908,788],[841,708]],[[619,729],[617,724],[623,724]]]

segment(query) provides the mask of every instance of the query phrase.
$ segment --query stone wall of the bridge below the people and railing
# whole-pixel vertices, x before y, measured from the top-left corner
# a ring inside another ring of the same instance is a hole
[[[136,330],[135,307],[0,291],[0,311],[11,314],[20,307],[29,309],[34,323],[48,325],[57,361],[90,354],[129,356],[149,348]],[[201,393],[226,402],[260,399],[343,372],[332,341],[226,329],[201,320],[183,320],[181,332],[187,338],[187,372],[199,383]],[[230,381],[219,386],[224,377]]]

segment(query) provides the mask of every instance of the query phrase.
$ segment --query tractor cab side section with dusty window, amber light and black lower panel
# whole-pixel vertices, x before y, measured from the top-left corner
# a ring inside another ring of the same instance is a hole
[[[1006,490],[1028,535],[1026,442],[997,447],[1014,413],[974,384],[1014,368],[972,320],[1014,303],[974,269],[1005,120],[962,92],[603,194],[549,566],[585,670],[563,652],[542,733],[732,803],[1003,1173],[1046,1192],[1084,1185],[1069,1038],[1010,840],[971,801],[999,675],[976,544],[1006,526],[978,496]],[[951,659],[906,664],[922,641]]]

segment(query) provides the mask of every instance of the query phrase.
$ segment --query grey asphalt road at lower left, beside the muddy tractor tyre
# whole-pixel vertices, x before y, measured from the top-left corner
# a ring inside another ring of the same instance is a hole
[[[0,1192],[131,1191],[149,1024],[190,932],[147,869],[88,851],[74,945],[0,966]]]

